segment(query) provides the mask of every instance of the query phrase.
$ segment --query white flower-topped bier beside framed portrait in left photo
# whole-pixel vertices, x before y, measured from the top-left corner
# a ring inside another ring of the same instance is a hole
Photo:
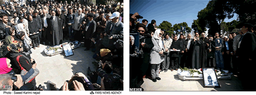
[[[45,52],[46,55],[48,55],[48,56],[52,56],[52,55],[56,55],[56,54],[62,53],[62,52],[64,52],[62,45],[65,45],[65,44],[69,44],[69,43],[68,43],[68,42],[62,43],[62,44],[60,44],[60,45],[55,45],[55,46],[53,46],[53,47],[47,46],[47,47],[44,49],[44,52]],[[78,48],[78,47],[80,46],[80,44],[81,44],[81,43],[79,43],[78,41],[70,42],[70,45],[71,45],[71,48],[72,48],[72,49]]]

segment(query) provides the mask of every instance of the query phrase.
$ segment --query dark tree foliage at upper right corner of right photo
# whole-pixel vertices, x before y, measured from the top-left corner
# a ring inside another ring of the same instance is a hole
[[[211,0],[207,6],[198,12],[198,19],[194,20],[191,26],[200,33],[203,28],[209,28],[208,34],[212,35],[216,31],[232,31],[240,28],[239,23],[251,23],[256,25],[255,0],[232,1],[232,0]],[[232,18],[234,13],[238,14],[237,20],[223,22],[225,18]]]

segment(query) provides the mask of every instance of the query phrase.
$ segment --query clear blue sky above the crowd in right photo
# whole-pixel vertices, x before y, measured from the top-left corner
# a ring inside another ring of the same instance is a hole
[[[143,19],[148,20],[148,23],[155,19],[157,25],[163,21],[168,21],[172,25],[186,22],[191,27],[193,20],[198,18],[198,12],[203,10],[208,2],[209,0],[130,0],[130,14],[138,12]],[[142,22],[143,19],[139,21]],[[237,19],[237,15],[224,21],[230,22],[234,19]]]

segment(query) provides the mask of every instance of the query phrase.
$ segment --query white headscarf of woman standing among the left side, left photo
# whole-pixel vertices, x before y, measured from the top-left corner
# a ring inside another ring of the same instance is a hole
[[[23,31],[23,32],[25,33],[25,39],[24,39],[24,41],[25,41],[25,43],[27,43],[28,45],[30,45],[32,40],[29,38],[29,36],[28,36],[28,34],[27,34],[27,32],[26,32],[26,29],[25,29],[25,27],[24,27],[24,24],[23,24],[23,23],[19,23],[19,24],[17,24],[17,25],[15,26],[15,28],[16,28],[16,30],[17,30],[17,33],[18,33],[19,31]]]

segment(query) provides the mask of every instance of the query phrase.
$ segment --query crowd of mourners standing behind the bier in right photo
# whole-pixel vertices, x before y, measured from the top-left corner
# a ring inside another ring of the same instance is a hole
[[[238,75],[245,90],[250,88],[246,76],[253,72],[256,62],[255,27],[249,23],[241,24],[241,30],[215,36],[195,31],[195,36],[182,32],[166,33],[156,27],[156,20],[148,24],[146,19],[138,21],[139,13],[130,14],[130,88],[141,88],[143,78],[153,82],[161,80],[160,72],[179,68],[215,68],[228,70]],[[148,24],[148,25],[147,25]],[[232,64],[232,68],[231,68]],[[142,88],[143,89],[143,88]]]

